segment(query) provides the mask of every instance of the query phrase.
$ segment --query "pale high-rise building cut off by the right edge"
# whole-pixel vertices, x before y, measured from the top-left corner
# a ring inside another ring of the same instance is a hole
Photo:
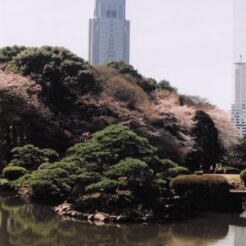
[[[246,136],[246,63],[235,63],[235,95],[232,119],[241,137]]]

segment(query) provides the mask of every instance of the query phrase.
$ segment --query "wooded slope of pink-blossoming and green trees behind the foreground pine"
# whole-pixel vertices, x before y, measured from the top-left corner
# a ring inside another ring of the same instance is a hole
[[[238,141],[227,113],[123,62],[92,67],[63,48],[14,46],[0,50],[0,63],[2,162],[21,144],[62,153],[108,125],[121,124],[149,139],[161,157],[189,165],[194,153],[210,152],[202,149],[199,129],[193,131],[197,111],[218,130],[217,159]]]

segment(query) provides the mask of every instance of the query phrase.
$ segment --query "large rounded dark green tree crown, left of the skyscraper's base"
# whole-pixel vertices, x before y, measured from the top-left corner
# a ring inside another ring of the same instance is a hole
[[[41,85],[43,101],[55,109],[68,110],[77,96],[100,90],[88,63],[64,48],[28,48],[5,70],[30,76]]]

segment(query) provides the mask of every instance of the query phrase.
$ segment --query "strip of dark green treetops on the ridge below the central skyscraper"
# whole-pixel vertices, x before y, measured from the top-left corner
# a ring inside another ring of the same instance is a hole
[[[141,74],[138,73],[137,70],[133,68],[133,66],[124,63],[123,61],[113,61],[107,63],[107,66],[117,70],[119,73],[125,76],[133,77],[137,84],[144,89],[146,92],[152,92],[157,89],[157,82],[152,78],[145,78]]]

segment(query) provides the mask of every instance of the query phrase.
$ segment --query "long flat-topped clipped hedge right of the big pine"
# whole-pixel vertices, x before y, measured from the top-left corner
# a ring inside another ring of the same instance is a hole
[[[219,175],[185,175],[173,179],[170,187],[179,195],[216,196],[229,192],[229,184]]]

